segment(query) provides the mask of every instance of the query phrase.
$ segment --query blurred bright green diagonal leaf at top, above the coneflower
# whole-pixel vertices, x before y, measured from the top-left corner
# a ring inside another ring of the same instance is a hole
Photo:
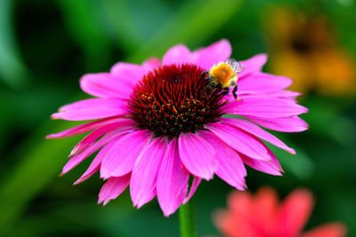
[[[231,20],[242,1],[188,1],[158,33],[142,45],[129,61],[141,62],[147,56],[160,56],[175,43],[202,43]],[[152,51],[152,49],[155,49]]]

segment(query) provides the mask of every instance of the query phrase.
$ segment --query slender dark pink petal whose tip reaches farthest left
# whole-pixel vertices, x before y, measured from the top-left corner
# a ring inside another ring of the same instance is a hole
[[[95,129],[101,127],[102,125],[109,123],[111,121],[116,121],[116,119],[115,118],[105,118],[105,119],[97,120],[94,122],[86,122],[86,123],[81,124],[77,127],[70,128],[69,130],[63,130],[58,133],[50,134],[50,135],[46,136],[45,138],[68,138],[68,137],[75,136],[77,134],[84,133],[84,132],[87,132],[90,130],[95,130]]]

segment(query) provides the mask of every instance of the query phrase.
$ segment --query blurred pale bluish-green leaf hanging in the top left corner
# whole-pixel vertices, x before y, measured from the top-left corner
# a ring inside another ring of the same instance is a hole
[[[12,0],[0,1],[0,80],[18,88],[26,83],[25,67],[12,32]]]

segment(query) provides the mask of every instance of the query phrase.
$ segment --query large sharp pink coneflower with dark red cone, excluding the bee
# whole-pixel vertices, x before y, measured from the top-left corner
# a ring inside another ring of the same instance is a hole
[[[197,51],[179,44],[162,61],[119,62],[109,73],[84,75],[82,90],[97,98],[61,107],[52,115],[94,120],[48,136],[65,138],[93,130],[74,147],[62,174],[100,150],[75,184],[100,170],[107,182],[99,202],[105,205],[130,185],[134,206],[140,208],[157,195],[166,216],[190,200],[202,178],[216,174],[244,190],[244,163],[280,175],[278,160],[259,138],[291,154],[295,150],[258,125],[286,132],[306,130],[297,115],[307,109],[296,104],[298,93],[284,91],[292,83],[289,78],[261,72],[264,54],[241,61],[245,70],[239,74],[239,101],[231,93],[205,90],[208,82],[199,78],[203,70],[230,56],[227,40]]]

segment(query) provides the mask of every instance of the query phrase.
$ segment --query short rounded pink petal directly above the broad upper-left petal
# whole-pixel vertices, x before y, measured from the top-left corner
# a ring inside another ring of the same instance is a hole
[[[134,85],[146,74],[142,66],[132,63],[118,62],[110,69],[110,74],[117,80]]]

